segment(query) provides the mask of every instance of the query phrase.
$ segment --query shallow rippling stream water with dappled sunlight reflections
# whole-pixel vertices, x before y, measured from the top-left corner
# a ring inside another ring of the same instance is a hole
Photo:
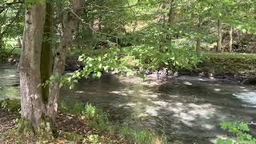
[[[0,66],[0,98],[14,98],[17,70]],[[16,76],[14,76],[16,75]],[[210,143],[223,133],[222,121],[256,120],[256,90],[207,78],[118,78],[106,75],[62,90],[62,101],[91,102],[114,122],[164,131],[169,141]]]

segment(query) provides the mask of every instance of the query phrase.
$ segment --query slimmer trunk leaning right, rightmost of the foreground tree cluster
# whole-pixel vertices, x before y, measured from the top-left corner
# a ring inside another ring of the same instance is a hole
[[[75,0],[72,11],[68,12],[64,15],[62,22],[62,39],[59,44],[58,50],[54,57],[54,70],[53,74],[57,74],[58,77],[51,82],[50,84],[50,94],[49,94],[49,105],[48,107],[48,115],[51,116],[51,121],[55,121],[55,116],[58,113],[58,98],[60,92],[60,82],[61,75],[65,70],[65,60],[66,54],[68,51],[68,47],[70,46],[70,42],[75,34],[75,31],[78,28],[78,23],[80,19],[78,16],[82,14],[83,0]]]

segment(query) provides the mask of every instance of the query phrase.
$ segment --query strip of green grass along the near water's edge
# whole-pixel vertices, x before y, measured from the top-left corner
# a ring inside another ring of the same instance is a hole
[[[67,105],[62,104],[62,106]],[[98,132],[117,134],[122,138],[129,139],[133,143],[167,143],[166,137],[164,135],[158,136],[158,134],[155,134],[152,130],[134,130],[130,129],[128,126],[115,125],[109,121],[106,113],[98,109],[96,106],[91,105],[90,103],[86,103],[85,106],[82,104],[74,104],[73,108],[64,107],[61,108],[61,110],[72,110],[73,112],[76,112],[76,114],[80,114],[82,118],[85,118],[85,121]],[[79,113],[79,110],[82,111]]]

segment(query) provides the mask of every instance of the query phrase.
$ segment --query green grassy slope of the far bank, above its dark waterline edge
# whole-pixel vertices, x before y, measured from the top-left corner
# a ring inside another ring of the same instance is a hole
[[[256,75],[256,54],[202,53],[202,62],[193,71],[216,76],[253,77]]]

